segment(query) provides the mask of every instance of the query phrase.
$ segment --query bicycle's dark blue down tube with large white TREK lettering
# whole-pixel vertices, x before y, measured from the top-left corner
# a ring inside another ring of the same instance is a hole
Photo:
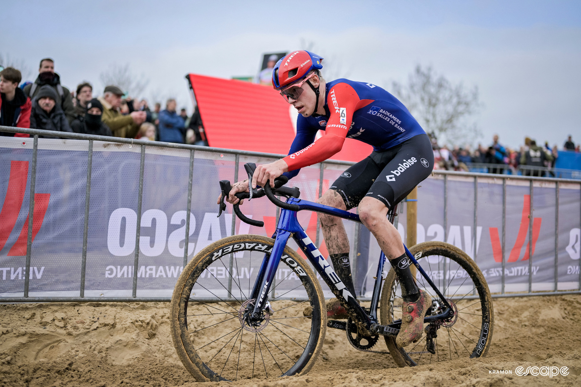
[[[337,276],[335,270],[333,270],[333,267],[329,265],[327,259],[322,256],[317,246],[315,246],[313,241],[311,241],[311,238],[307,236],[301,227],[293,229],[293,239],[299,247],[303,249],[304,253],[309,258],[309,261],[313,263],[315,270],[321,274],[321,278],[325,281],[329,289],[331,289],[342,305],[345,306],[350,313],[357,314],[360,321],[365,321],[369,324],[371,320],[369,316],[363,312],[363,309],[359,306],[355,296],[347,290],[343,281],[339,279],[339,276]]]

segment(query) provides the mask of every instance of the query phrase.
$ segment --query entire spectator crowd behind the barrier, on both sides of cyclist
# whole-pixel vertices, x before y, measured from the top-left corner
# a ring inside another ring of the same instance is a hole
[[[269,58],[269,66],[274,59]],[[93,86],[86,81],[71,92],[60,84],[60,76],[55,73],[55,62],[51,58],[40,61],[34,82],[20,84],[21,81],[20,71],[16,68],[6,67],[0,71],[0,125],[55,132],[54,136],[44,136],[46,138],[59,138],[56,132],[74,132],[208,144],[198,107],[188,117],[185,108],[177,112],[175,99],[168,99],[164,110],[159,102],[150,110],[147,100],[133,99],[116,85],[106,86],[102,95],[96,98]],[[28,137],[24,133],[0,132],[0,135]],[[490,146],[479,144],[474,150],[470,146],[456,146],[450,150],[447,146],[440,147],[434,135],[431,139],[435,169],[469,171],[476,168],[480,172],[504,173],[508,170],[516,173],[520,165],[526,165],[527,168],[520,168],[523,174],[545,176],[547,167],[554,167],[558,158],[556,144],[550,147],[545,142],[540,146],[530,138],[525,138],[525,144],[518,150],[503,146],[498,142],[498,135],[494,136]],[[579,152],[579,144],[575,145],[569,136],[564,150]]]

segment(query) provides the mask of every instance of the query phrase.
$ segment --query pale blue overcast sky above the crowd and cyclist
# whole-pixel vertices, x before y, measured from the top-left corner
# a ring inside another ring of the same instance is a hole
[[[185,74],[254,75],[264,52],[312,42],[329,59],[324,75],[389,91],[419,63],[477,85],[484,144],[494,133],[512,147],[526,135],[581,142],[580,1],[3,0],[0,31],[0,53],[23,60],[32,80],[50,56],[63,85],[86,79],[99,93],[99,74],[128,63],[149,79],[145,96],[188,110]]]

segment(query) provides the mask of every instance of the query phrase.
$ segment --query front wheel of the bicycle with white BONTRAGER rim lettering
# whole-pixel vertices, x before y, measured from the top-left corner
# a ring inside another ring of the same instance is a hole
[[[273,239],[257,235],[223,238],[184,268],[171,301],[171,337],[198,381],[304,374],[313,367],[327,311],[321,285],[295,251],[284,250],[264,320],[256,326],[243,318],[254,301],[249,298],[261,262],[273,245]],[[311,318],[303,316],[307,306]]]

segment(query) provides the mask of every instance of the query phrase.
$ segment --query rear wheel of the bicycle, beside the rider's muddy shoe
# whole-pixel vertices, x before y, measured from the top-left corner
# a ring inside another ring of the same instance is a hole
[[[419,265],[444,297],[451,303],[455,317],[424,324],[424,334],[417,343],[397,348],[395,338],[385,337],[389,352],[400,367],[416,366],[460,357],[486,355],[494,325],[492,297],[476,263],[454,245],[430,241],[410,248]],[[432,296],[428,314],[442,313],[436,292],[419,273],[416,283]],[[383,284],[380,317],[383,325],[401,319],[401,287],[393,269]]]

